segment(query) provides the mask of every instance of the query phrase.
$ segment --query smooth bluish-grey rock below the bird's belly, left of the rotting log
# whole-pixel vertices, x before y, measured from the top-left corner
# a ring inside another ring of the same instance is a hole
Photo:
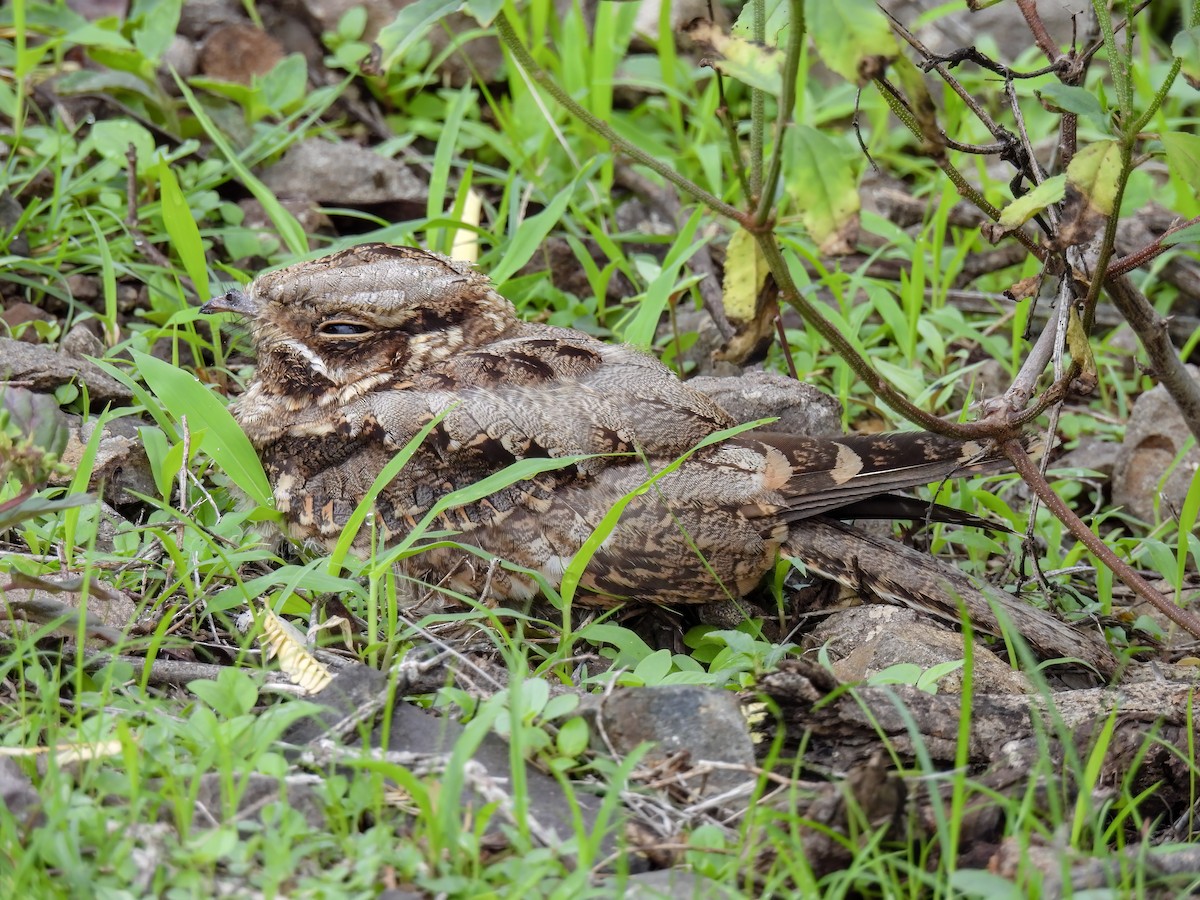
[[[750,726],[736,694],[698,685],[624,688],[600,706],[600,722],[618,754],[643,743],[654,746],[644,757],[654,763],[685,751],[692,767],[719,762],[744,770],[719,768],[684,772],[682,780],[701,797],[713,797],[755,779]]]

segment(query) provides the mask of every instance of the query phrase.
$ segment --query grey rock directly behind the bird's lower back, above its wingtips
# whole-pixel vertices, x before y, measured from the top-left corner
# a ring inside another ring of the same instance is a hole
[[[841,403],[794,378],[750,370],[742,376],[697,376],[688,384],[710,396],[738,421],[778,415],[779,421],[764,426],[764,431],[841,433]]]

